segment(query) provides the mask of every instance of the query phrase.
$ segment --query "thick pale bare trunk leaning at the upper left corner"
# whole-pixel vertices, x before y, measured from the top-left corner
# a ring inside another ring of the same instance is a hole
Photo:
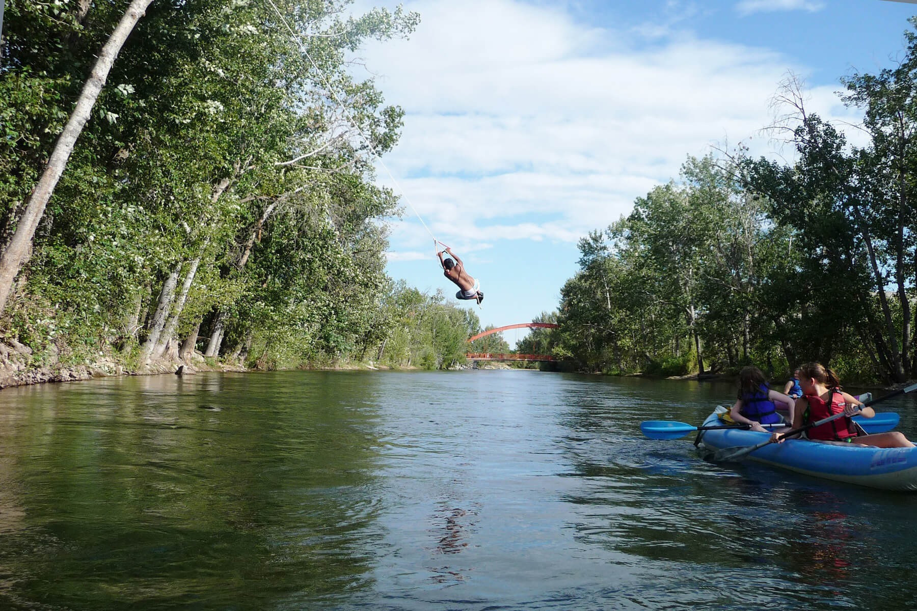
[[[99,59],[95,61],[89,80],[83,85],[83,92],[80,93],[76,108],[67,125],[64,126],[57,144],[54,145],[45,171],[28,196],[26,210],[19,218],[16,233],[3,255],[0,256],[0,312],[6,308],[6,300],[9,299],[13,280],[19,273],[19,269],[28,261],[32,237],[35,235],[35,230],[45,213],[45,207],[48,205],[58,180],[61,180],[61,174],[73,152],[76,139],[83,132],[83,126],[86,125],[86,121],[92,114],[95,100],[105,86],[105,80],[108,78],[112,64],[115,63],[118,51],[124,46],[127,36],[152,1],[133,0],[127,6],[127,11],[121,17],[115,31],[112,32],[111,38],[108,38],[105,47],[99,53]]]

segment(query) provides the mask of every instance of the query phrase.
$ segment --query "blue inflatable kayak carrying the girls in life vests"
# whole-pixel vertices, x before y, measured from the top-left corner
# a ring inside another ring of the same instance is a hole
[[[704,426],[717,424],[721,422],[715,412],[703,422]],[[710,450],[750,446],[767,439],[768,433],[742,429],[699,434],[699,442]],[[917,490],[917,448],[873,448],[790,439],[770,443],[747,454],[746,459],[847,484]]]

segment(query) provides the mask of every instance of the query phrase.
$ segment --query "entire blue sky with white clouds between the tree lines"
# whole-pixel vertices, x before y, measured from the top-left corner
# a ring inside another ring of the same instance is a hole
[[[397,3],[356,10],[370,5]],[[379,166],[404,206],[386,269],[454,295],[419,215],[481,280],[481,310],[462,307],[496,326],[555,310],[579,238],[677,177],[686,156],[740,141],[775,154],[760,129],[790,71],[812,111],[856,123],[839,78],[894,65],[917,14],[886,0],[403,5],[421,15],[414,35],[359,58],[405,110]]]

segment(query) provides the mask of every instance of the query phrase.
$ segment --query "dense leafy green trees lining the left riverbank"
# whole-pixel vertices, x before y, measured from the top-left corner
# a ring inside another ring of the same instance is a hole
[[[347,5],[150,5],[52,196],[5,333],[66,344],[83,359],[139,354],[138,365],[186,335],[265,368],[373,353],[393,364],[460,362],[478,321],[442,295],[423,296],[406,360],[386,352],[411,318],[400,309],[410,295],[392,294],[383,272],[397,200],[373,184],[372,160],[397,143],[403,112],[353,78],[348,56],[366,39],[407,36],[418,16],[344,18]],[[121,10],[7,3],[0,238]]]

